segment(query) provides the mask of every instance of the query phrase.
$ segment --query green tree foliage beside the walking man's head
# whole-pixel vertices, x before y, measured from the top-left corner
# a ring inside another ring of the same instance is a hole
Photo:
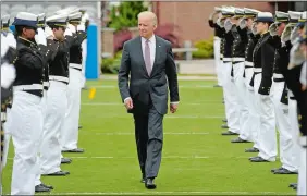
[[[112,8],[108,26],[115,30],[137,26],[137,14],[146,10],[143,1],[122,1],[118,8]]]

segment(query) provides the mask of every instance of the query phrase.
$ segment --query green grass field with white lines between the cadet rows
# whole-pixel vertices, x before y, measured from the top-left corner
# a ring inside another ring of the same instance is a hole
[[[250,163],[251,144],[231,144],[234,136],[221,136],[224,118],[222,89],[216,82],[180,81],[177,113],[165,115],[164,146],[157,189],[147,191],[134,140],[134,125],[120,99],[115,81],[88,82],[96,87],[90,100],[83,90],[79,147],[85,154],[64,154],[69,176],[47,176],[54,186],[50,194],[89,195],[290,195],[297,175],[274,175],[280,162]],[[13,149],[3,174],[4,194],[10,193]]]

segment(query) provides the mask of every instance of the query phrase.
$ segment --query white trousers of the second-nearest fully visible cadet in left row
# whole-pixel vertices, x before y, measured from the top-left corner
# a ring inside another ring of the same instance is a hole
[[[60,134],[64,123],[67,107],[67,85],[50,81],[47,93],[46,119],[44,121],[44,135],[40,148],[41,174],[61,171]]]

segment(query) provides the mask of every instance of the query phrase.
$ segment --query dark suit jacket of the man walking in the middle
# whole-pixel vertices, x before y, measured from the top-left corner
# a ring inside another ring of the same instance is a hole
[[[119,71],[119,89],[122,101],[127,97],[133,99],[134,109],[128,112],[146,112],[152,102],[160,114],[168,113],[168,86],[171,102],[179,101],[176,65],[171,44],[156,36],[155,63],[148,75],[140,37],[126,41]]]

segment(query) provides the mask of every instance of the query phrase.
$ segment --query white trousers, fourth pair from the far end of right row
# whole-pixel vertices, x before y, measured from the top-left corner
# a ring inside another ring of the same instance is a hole
[[[254,75],[253,68],[245,69],[245,89],[246,89],[246,105],[248,108],[247,125],[249,128],[244,132],[247,138],[251,138],[254,148],[258,148],[258,132],[260,125],[260,117],[257,112],[257,100],[255,96],[254,87],[250,86],[250,81]],[[249,132],[248,132],[249,131]]]

